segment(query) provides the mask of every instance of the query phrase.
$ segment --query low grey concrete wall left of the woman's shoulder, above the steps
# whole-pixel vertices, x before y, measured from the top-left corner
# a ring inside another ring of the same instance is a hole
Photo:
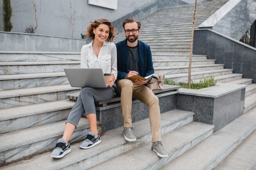
[[[84,39],[0,31],[0,51],[80,52]]]

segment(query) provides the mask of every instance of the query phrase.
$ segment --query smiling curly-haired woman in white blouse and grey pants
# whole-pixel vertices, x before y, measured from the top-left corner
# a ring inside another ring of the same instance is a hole
[[[97,131],[95,101],[111,99],[115,92],[115,80],[117,78],[117,49],[112,43],[115,29],[112,23],[106,19],[91,22],[87,28],[86,36],[93,41],[81,49],[81,68],[102,68],[103,73],[111,73],[109,88],[82,88],[80,95],[67,118],[63,137],[58,139],[52,158],[62,158],[71,152],[70,137],[74,132],[82,115],[86,115],[90,132],[80,145],[80,148],[88,149],[101,143]]]

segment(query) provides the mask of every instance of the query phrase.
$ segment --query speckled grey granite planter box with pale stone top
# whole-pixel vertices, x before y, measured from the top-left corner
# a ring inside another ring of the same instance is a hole
[[[199,90],[180,88],[176,109],[195,113],[194,121],[212,124],[216,132],[243,115],[246,86],[219,83]]]

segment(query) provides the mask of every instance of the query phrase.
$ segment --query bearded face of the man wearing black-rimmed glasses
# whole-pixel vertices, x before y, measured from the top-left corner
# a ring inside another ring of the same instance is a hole
[[[138,24],[136,22],[127,23],[124,25],[125,36],[129,42],[135,42],[139,38],[140,29],[138,30]],[[132,31],[131,31],[132,30]],[[132,33],[135,32],[136,33]],[[130,33],[128,33],[130,31]]]

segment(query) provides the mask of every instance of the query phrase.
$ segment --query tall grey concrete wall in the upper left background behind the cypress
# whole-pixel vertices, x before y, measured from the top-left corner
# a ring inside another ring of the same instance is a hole
[[[0,0],[0,31],[3,31],[2,1]],[[88,4],[88,0],[36,0],[37,34],[72,37],[71,9],[74,13],[74,38],[81,38],[91,20],[107,18],[117,20],[145,3],[154,0],[118,0],[117,10]],[[24,33],[34,25],[32,0],[11,0],[12,32]]]

